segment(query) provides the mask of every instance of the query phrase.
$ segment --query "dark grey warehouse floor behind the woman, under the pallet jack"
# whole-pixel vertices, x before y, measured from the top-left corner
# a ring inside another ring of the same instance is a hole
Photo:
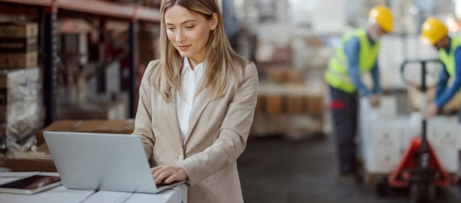
[[[334,140],[251,139],[238,159],[245,202],[408,202],[405,195],[381,198],[372,187],[336,181]],[[461,202],[460,188],[442,192],[439,202]]]

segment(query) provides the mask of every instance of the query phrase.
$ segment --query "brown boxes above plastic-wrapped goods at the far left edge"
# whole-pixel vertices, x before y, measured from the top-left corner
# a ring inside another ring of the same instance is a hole
[[[43,124],[38,32],[37,23],[0,24],[0,154],[33,147]]]

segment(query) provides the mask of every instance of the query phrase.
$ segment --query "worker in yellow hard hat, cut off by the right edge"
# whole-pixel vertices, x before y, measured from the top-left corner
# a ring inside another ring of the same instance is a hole
[[[433,45],[443,63],[435,100],[427,110],[427,116],[433,117],[461,88],[461,38],[449,37],[447,27],[433,17],[422,24],[421,32],[422,42]],[[450,77],[454,77],[454,82],[447,88]],[[461,120],[461,111],[459,115]]]

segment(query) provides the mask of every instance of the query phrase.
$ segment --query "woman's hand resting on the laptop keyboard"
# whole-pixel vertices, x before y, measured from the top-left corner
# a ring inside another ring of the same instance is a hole
[[[179,165],[159,165],[151,168],[152,177],[154,177],[155,184],[165,182],[166,184],[174,181],[187,180],[187,173],[183,167]]]

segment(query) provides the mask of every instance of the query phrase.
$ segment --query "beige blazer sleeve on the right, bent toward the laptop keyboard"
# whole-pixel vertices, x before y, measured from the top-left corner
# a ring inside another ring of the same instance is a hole
[[[190,185],[233,163],[243,152],[255,114],[257,89],[258,72],[252,63],[246,65],[239,88],[228,104],[218,139],[203,152],[177,163],[186,170]]]

